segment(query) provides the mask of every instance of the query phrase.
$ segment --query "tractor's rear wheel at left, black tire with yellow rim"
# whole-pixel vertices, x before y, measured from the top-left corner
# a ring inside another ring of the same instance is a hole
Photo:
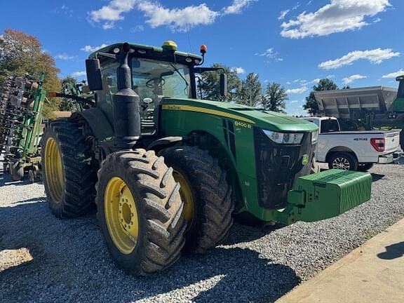
[[[77,217],[93,206],[95,180],[90,147],[81,126],[71,121],[51,122],[41,140],[43,184],[56,217]]]

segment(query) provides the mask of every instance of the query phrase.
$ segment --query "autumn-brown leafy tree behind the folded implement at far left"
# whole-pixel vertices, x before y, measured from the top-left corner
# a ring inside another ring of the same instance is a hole
[[[55,60],[42,49],[41,43],[34,36],[13,29],[6,29],[0,38],[0,74],[30,74],[38,77],[46,74],[44,88],[47,91],[60,91],[60,70]],[[50,116],[58,109],[58,100],[51,99],[43,108],[43,115]]]

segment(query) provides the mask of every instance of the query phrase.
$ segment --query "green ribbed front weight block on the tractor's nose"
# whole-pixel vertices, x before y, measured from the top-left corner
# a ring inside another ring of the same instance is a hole
[[[288,193],[288,206],[280,221],[314,222],[336,217],[370,200],[372,175],[346,170],[325,170],[299,177]]]

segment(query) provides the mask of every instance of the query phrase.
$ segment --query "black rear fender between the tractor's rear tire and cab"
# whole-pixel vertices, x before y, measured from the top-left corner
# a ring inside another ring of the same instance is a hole
[[[114,136],[114,129],[101,109],[93,107],[76,114],[79,114],[87,121],[97,140],[102,141]]]

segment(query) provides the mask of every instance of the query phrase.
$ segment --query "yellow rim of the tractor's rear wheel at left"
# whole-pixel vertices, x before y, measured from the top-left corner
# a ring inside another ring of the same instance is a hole
[[[45,173],[50,198],[55,202],[61,202],[65,187],[62,156],[60,156],[58,144],[51,137],[45,145]]]

